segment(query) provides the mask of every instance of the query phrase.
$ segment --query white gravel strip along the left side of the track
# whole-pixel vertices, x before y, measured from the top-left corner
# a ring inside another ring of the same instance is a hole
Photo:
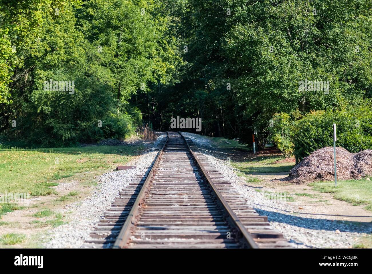
[[[79,248],[84,240],[89,238],[90,232],[103,218],[103,213],[110,208],[119,191],[127,187],[135,176],[144,175],[148,171],[158,153],[155,148],[164,141],[165,136],[159,136],[147,152],[126,164],[137,168],[101,175],[92,196],[67,205],[62,213],[68,218],[68,223],[50,230],[48,235],[44,236],[46,240],[50,239],[44,244],[45,248]]]

